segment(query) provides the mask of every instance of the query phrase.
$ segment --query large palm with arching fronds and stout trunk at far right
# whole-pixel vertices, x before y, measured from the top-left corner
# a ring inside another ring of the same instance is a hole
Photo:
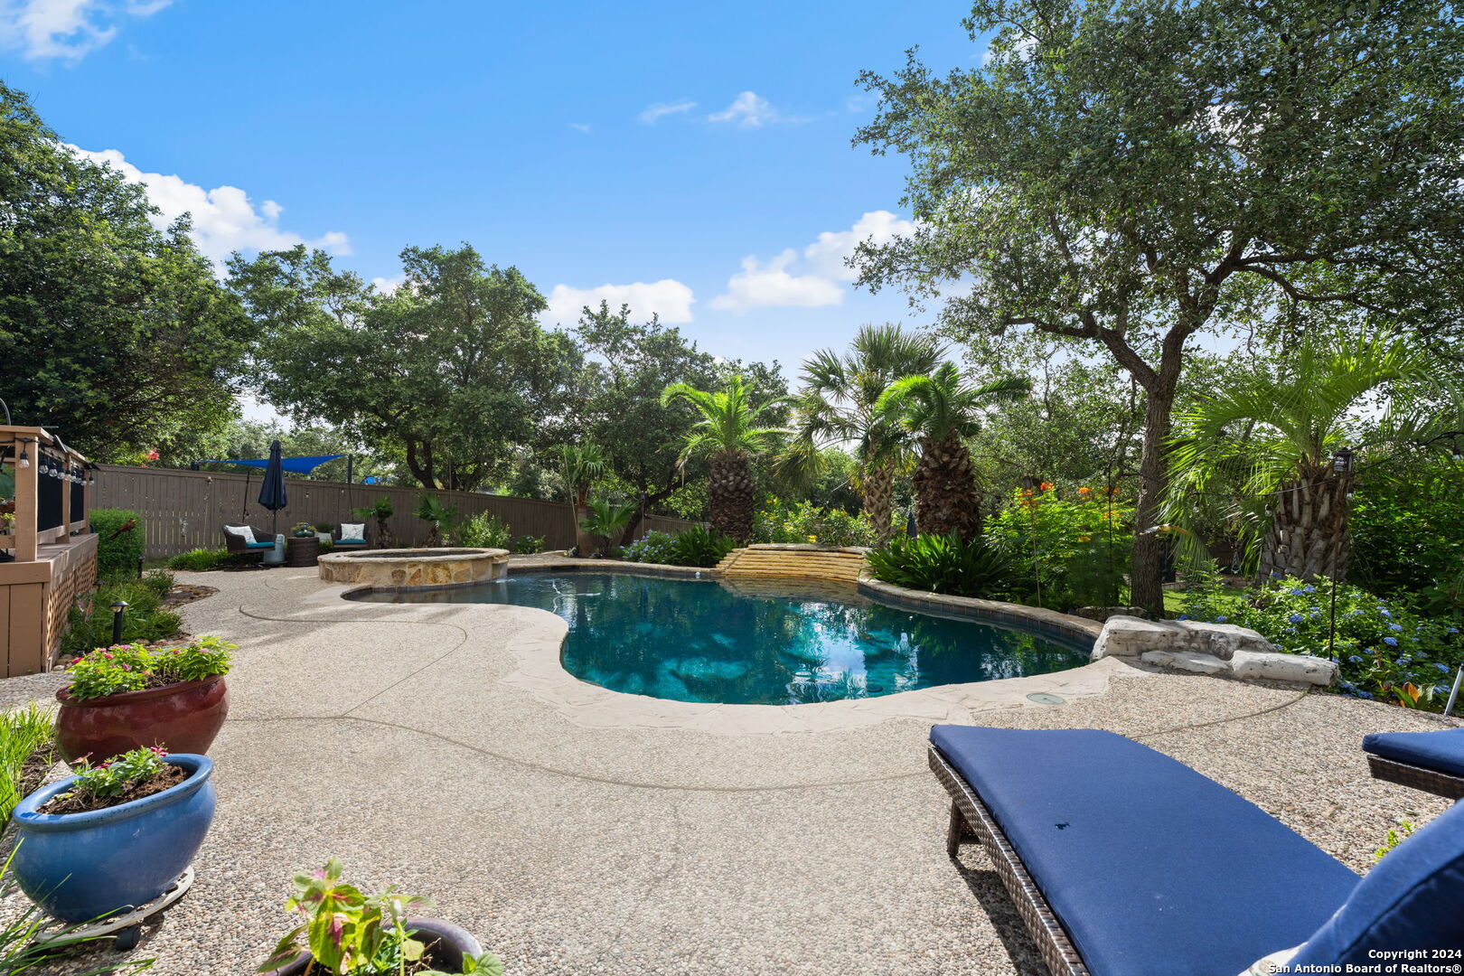
[[[1269,514],[1255,531],[1261,575],[1342,579],[1356,462],[1337,464],[1338,451],[1417,443],[1438,423],[1395,410],[1397,398],[1386,398],[1369,436],[1357,436],[1350,421],[1385,388],[1433,386],[1436,367],[1426,351],[1391,334],[1309,339],[1287,366],[1280,378],[1236,376],[1180,413],[1165,514],[1183,524],[1192,499],[1217,476],[1239,474],[1240,490]]]

